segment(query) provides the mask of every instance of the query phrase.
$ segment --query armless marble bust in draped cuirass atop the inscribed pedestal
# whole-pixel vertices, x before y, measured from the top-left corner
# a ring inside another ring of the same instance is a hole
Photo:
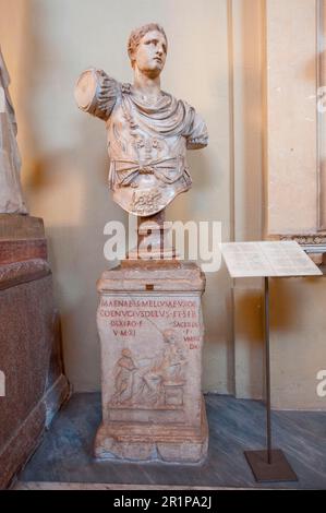
[[[161,212],[191,188],[186,150],[205,147],[208,141],[195,109],[160,88],[167,50],[164,28],[144,25],[129,39],[132,85],[89,69],[75,87],[79,107],[106,122],[113,200],[143,217]]]

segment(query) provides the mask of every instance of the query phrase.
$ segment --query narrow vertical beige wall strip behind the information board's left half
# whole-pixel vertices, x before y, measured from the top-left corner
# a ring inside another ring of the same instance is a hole
[[[234,240],[261,240],[263,230],[264,2],[232,1],[233,231]],[[261,279],[233,284],[234,390],[263,394]]]

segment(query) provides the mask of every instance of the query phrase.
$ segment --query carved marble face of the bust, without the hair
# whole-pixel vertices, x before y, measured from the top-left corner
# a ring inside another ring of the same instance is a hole
[[[150,76],[162,71],[167,59],[167,41],[158,31],[150,31],[142,37],[134,55],[134,67]]]

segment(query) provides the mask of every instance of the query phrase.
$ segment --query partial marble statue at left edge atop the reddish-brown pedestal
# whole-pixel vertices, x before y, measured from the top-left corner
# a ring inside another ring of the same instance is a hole
[[[17,123],[9,84],[10,76],[0,48],[0,214],[27,214],[21,187]]]

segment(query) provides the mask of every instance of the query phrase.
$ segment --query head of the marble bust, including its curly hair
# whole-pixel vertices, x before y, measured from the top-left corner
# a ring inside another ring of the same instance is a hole
[[[129,38],[128,55],[133,69],[138,69],[152,77],[162,71],[168,50],[168,39],[164,28],[149,23],[135,28]]]

